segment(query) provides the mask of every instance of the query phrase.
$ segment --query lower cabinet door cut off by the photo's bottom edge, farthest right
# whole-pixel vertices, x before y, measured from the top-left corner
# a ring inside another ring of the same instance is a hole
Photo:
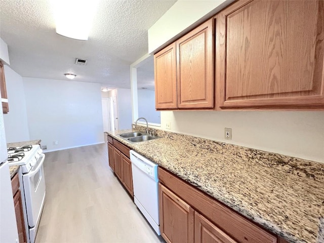
[[[194,213],[195,243],[237,243],[203,215]]]

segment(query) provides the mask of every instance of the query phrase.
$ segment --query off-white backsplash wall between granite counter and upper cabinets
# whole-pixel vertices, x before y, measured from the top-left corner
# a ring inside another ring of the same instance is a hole
[[[162,111],[161,129],[167,121],[174,132],[324,163],[324,111]]]

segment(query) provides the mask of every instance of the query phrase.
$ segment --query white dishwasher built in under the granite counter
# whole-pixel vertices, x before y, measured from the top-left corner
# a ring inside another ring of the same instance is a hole
[[[160,235],[158,215],[157,164],[143,155],[130,151],[133,173],[134,203]]]

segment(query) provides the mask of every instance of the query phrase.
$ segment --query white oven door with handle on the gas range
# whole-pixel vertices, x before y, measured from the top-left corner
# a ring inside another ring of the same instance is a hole
[[[42,153],[33,168],[27,174],[23,174],[27,221],[30,228],[34,227],[38,223],[44,206],[44,160],[45,154]]]

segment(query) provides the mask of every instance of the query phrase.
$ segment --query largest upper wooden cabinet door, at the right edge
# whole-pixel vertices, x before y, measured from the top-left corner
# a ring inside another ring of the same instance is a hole
[[[323,1],[238,1],[220,12],[218,105],[323,108],[323,6]]]

